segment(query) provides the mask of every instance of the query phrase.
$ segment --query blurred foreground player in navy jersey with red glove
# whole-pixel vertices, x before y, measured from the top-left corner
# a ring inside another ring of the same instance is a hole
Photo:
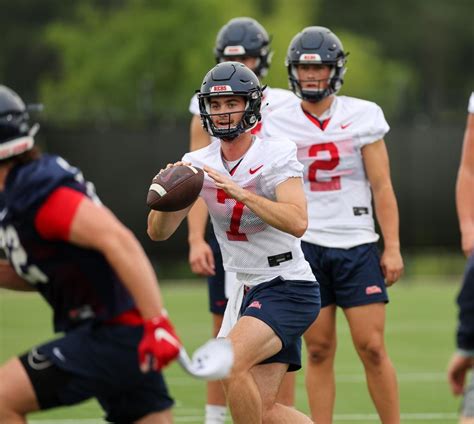
[[[0,367],[0,422],[96,397],[110,421],[171,423],[161,373],[138,361],[159,370],[180,348],[153,268],[79,169],[41,155],[33,132],[0,86],[0,286],[37,290],[64,333]],[[169,337],[155,339],[158,328]]]

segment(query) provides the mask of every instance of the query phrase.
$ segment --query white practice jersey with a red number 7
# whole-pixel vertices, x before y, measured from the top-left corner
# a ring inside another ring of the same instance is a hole
[[[301,178],[303,170],[296,158],[296,146],[284,138],[268,143],[255,137],[232,172],[224,166],[220,143],[187,153],[183,161],[213,167],[239,186],[272,201],[276,200],[277,185],[292,177]],[[201,197],[207,203],[226,271],[263,276],[246,281],[248,285],[277,276],[314,281],[298,238],[265,223],[243,203],[218,189],[207,174]]]

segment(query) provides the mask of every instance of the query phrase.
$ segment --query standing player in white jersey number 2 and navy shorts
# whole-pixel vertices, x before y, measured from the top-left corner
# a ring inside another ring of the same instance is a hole
[[[384,345],[385,286],[403,270],[398,209],[384,135],[389,126],[376,104],[336,96],[346,54],[329,29],[307,27],[287,53],[290,86],[301,104],[264,122],[265,136],[285,134],[304,164],[309,225],[303,250],[321,285],[321,314],[305,334],[306,387],[313,419],[332,422],[335,399],[336,307],[348,320],[381,422],[398,423],[394,367]],[[383,235],[379,258],[372,218]]]

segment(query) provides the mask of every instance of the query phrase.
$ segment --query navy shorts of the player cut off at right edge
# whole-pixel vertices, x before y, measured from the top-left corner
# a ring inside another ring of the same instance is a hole
[[[457,345],[460,349],[474,351],[474,254],[467,261],[457,302],[459,306]]]

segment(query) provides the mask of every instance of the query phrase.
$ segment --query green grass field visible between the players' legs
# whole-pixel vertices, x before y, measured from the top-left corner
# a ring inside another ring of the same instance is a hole
[[[386,339],[398,372],[402,422],[457,422],[459,400],[452,397],[445,369],[454,349],[459,277],[402,280],[390,289]],[[204,282],[163,281],[167,309],[188,351],[210,336],[210,315]],[[36,294],[0,290],[0,362],[52,337],[51,314]],[[362,367],[351,344],[343,316],[338,316],[336,423],[378,422],[368,396]],[[203,382],[188,377],[179,366],[166,370],[176,399],[177,423],[202,423]],[[0,382],[1,384],[1,382]],[[303,372],[298,373],[297,407],[308,412]],[[30,422],[45,424],[101,423],[94,401],[76,407],[32,414]],[[230,422],[230,420],[229,420]]]

